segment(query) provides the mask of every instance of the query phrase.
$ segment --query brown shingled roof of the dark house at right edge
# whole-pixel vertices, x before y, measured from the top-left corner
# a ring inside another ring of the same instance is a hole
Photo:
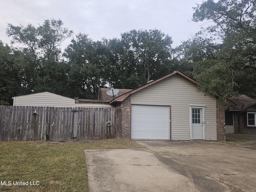
[[[235,106],[230,107],[230,111],[245,111],[248,108],[256,105],[256,100],[246,95],[240,95],[238,97],[231,97],[228,99],[236,104]]]

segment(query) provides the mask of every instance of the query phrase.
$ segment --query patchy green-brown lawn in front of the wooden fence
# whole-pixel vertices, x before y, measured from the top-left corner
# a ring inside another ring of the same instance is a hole
[[[0,191],[88,192],[84,149],[142,148],[133,140],[0,142]],[[3,182],[11,182],[10,186]],[[28,185],[14,185],[15,182]],[[39,185],[30,185],[31,184]],[[38,181],[38,182],[37,182]],[[14,184],[13,184],[14,182]]]

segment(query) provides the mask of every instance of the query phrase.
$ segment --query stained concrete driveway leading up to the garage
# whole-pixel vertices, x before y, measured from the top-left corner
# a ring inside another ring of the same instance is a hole
[[[255,192],[256,150],[218,142],[137,141],[85,150],[90,192]]]

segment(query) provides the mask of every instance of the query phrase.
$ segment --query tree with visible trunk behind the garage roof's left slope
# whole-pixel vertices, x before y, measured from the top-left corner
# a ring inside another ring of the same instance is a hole
[[[171,71],[172,38],[160,30],[131,30],[121,34],[128,67],[143,82]]]

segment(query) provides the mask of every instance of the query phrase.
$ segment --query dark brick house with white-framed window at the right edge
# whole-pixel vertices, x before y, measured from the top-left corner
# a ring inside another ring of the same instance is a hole
[[[256,133],[256,100],[240,95],[225,112],[226,133]]]

